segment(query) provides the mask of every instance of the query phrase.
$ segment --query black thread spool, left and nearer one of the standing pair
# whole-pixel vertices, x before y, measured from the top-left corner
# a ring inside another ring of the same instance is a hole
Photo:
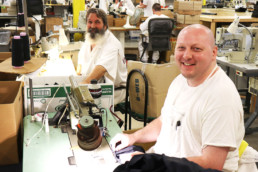
[[[20,36],[14,36],[12,39],[12,66],[13,68],[22,68],[24,65],[24,53]]]

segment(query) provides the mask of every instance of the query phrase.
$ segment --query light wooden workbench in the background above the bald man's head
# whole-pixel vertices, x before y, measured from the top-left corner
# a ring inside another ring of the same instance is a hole
[[[258,23],[258,18],[251,17],[252,12],[235,12],[235,9],[221,8],[221,9],[202,9],[202,13],[216,13],[216,15],[201,14],[200,24],[209,27],[214,36],[216,35],[216,28],[218,24],[227,23],[228,25],[234,21],[235,15],[239,16],[240,23]]]

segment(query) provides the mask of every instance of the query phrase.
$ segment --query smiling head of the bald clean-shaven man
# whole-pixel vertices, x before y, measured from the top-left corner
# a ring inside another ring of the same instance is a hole
[[[178,35],[175,58],[190,86],[198,86],[216,65],[213,33],[202,25],[191,25]]]

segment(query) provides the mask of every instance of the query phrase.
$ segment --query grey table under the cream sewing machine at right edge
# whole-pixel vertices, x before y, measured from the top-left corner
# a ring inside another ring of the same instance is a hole
[[[217,63],[226,67],[226,72],[229,74],[229,70],[234,69],[237,73],[240,73],[242,76],[247,77],[258,77],[258,66],[254,63],[251,64],[238,64],[238,63],[230,63],[225,57],[217,57]],[[256,131],[256,128],[250,128],[254,120],[258,117],[258,101],[255,104],[255,110],[245,122],[245,130],[246,133]]]

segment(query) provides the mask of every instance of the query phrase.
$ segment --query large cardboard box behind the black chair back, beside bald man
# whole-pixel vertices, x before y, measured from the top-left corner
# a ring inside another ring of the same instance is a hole
[[[180,73],[175,63],[150,64],[139,61],[127,62],[128,73],[133,69],[144,72],[148,81],[148,117],[158,117],[161,113],[168,88]],[[130,97],[131,95],[131,97]],[[136,113],[144,113],[145,84],[140,74],[135,73],[130,79],[129,99],[131,109]]]

